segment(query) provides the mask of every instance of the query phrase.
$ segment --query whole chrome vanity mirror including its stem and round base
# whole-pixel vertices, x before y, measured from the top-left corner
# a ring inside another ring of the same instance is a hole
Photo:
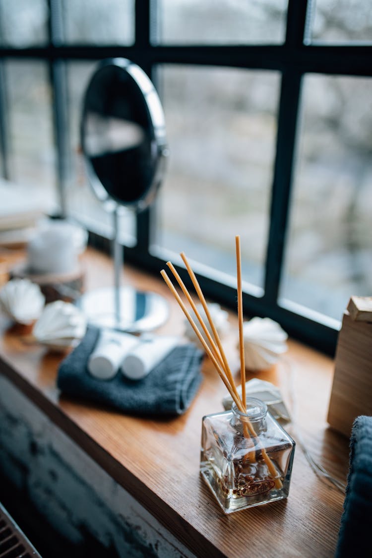
[[[114,288],[91,291],[80,306],[91,323],[125,331],[147,331],[167,318],[157,294],[120,287],[123,247],[118,243],[118,208],[141,211],[151,203],[165,173],[163,109],[139,66],[124,58],[100,62],[86,89],[81,147],[90,185],[114,218]]]

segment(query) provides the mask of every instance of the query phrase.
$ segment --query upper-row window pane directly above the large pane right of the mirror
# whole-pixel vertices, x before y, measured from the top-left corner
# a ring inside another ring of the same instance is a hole
[[[282,43],[288,0],[158,0],[156,42]]]

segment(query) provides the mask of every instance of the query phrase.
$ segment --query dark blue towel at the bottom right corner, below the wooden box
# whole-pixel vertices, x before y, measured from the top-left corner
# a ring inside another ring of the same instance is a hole
[[[336,558],[372,556],[372,417],[357,417]]]

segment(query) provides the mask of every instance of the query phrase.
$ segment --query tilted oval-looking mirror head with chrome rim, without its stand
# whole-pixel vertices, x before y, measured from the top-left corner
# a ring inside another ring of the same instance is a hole
[[[124,58],[100,62],[86,90],[81,146],[98,198],[143,209],[165,171],[163,109],[139,66]]]

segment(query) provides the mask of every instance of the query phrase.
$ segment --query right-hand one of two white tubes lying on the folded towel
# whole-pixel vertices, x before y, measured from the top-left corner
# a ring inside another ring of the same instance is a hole
[[[142,338],[142,342],[125,355],[121,371],[125,377],[139,380],[180,344],[180,338],[170,336]]]

